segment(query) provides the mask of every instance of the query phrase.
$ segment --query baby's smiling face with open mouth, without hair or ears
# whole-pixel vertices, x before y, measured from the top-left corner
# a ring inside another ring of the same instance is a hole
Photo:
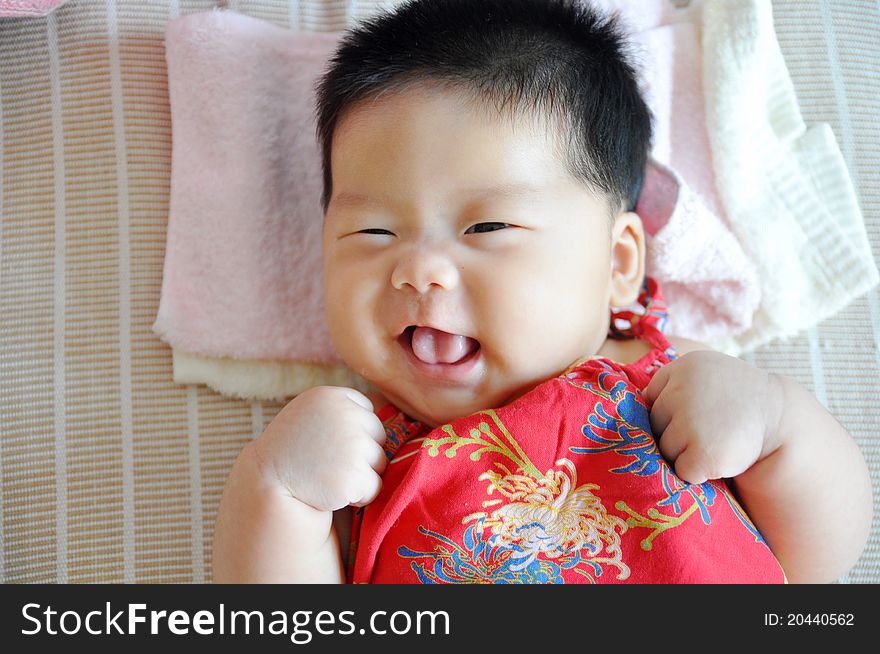
[[[439,90],[352,109],[332,147],[324,290],[339,354],[430,426],[596,353],[607,206],[547,136]]]

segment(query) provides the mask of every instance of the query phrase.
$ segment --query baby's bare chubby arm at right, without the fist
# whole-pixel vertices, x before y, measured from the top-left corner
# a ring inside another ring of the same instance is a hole
[[[871,481],[847,431],[802,386],[771,375],[779,420],[736,491],[789,581],[832,582],[858,560],[873,513]]]

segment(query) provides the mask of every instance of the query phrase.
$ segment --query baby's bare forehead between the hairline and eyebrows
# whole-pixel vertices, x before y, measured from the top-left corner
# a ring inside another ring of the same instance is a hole
[[[346,112],[334,138],[330,204],[513,206],[565,186],[583,189],[549,129],[528,113],[431,88],[361,102]]]

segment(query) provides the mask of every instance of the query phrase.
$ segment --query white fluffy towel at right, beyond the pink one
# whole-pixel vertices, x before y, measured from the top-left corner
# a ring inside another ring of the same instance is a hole
[[[731,353],[793,336],[878,281],[834,134],[804,125],[769,2],[706,0],[703,79],[715,179],[758,266],[761,304]]]

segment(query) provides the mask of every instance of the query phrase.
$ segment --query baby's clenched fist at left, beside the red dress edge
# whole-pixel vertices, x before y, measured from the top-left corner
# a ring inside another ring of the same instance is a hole
[[[336,386],[295,397],[254,441],[263,475],[319,511],[376,497],[387,464],[384,443],[370,400]]]

